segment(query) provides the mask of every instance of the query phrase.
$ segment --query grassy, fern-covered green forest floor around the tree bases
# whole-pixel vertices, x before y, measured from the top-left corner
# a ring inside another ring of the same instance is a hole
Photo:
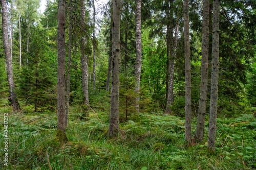
[[[67,137],[56,139],[56,112],[11,113],[0,108],[1,169],[255,169],[256,118],[253,114],[217,119],[216,152],[203,143],[186,145],[184,118],[163,113],[136,113],[120,124],[122,133],[108,138],[109,112],[90,112],[85,121],[71,108]],[[8,113],[8,128],[4,126]],[[7,114],[6,114],[7,116]],[[193,134],[196,118],[193,119]],[[4,165],[8,129],[8,166]]]

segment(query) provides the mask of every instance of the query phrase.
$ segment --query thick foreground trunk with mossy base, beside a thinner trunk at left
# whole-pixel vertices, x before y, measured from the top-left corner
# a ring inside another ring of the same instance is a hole
[[[65,26],[66,26],[66,1],[58,1],[58,35],[57,35],[57,48],[58,48],[58,68],[57,68],[57,88],[58,88],[58,122],[57,122],[57,135],[56,137],[60,142],[67,142],[66,126],[65,126]]]

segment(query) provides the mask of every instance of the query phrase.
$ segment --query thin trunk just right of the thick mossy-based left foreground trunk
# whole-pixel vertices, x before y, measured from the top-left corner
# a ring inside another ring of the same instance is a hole
[[[66,112],[65,112],[65,126],[69,123],[69,98],[70,98],[70,67],[71,67],[71,40],[72,40],[72,21],[71,10],[69,11],[69,63],[67,71],[67,85],[66,85]]]

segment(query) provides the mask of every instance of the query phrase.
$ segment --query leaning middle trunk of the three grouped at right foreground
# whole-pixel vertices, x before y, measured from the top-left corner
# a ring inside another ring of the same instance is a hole
[[[203,4],[203,33],[202,33],[202,60],[201,85],[198,108],[197,129],[195,139],[202,142],[204,139],[204,118],[206,112],[207,83],[208,83],[208,50],[209,50],[209,0]]]

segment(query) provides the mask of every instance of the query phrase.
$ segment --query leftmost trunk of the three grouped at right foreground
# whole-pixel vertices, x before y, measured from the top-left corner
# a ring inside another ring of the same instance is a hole
[[[184,0],[184,41],[185,41],[185,140],[191,143],[191,65],[189,45],[189,0]]]

